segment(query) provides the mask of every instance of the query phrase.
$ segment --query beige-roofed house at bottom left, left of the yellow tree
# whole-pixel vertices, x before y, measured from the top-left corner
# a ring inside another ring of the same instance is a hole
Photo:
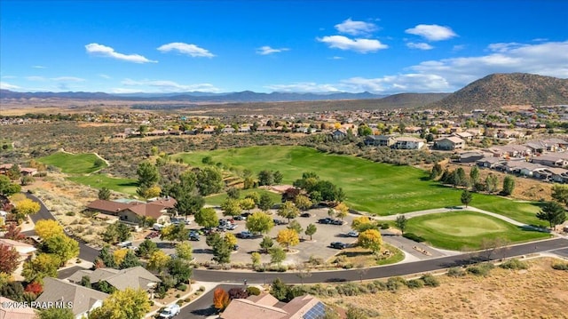
[[[67,307],[70,305],[73,315],[76,319],[87,316],[89,312],[97,307],[102,306],[103,300],[108,294],[96,291],[91,288],[83,287],[75,283],[68,283],[57,278],[43,278],[43,292],[36,299],[36,304],[59,305]]]

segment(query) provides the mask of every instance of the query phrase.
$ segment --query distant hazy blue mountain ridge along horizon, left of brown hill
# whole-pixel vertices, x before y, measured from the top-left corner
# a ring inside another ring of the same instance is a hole
[[[191,102],[285,102],[307,100],[368,100],[381,99],[385,95],[370,92],[349,93],[296,93],[272,92],[257,93],[251,91],[229,93],[180,92],[180,93],[123,93],[105,92],[13,92],[0,90],[1,99],[75,99],[75,100],[139,100],[139,101],[191,101]]]

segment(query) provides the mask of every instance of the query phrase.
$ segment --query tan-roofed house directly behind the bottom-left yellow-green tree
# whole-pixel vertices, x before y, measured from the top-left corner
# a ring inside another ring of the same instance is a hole
[[[152,275],[144,267],[131,267],[122,270],[114,268],[97,268],[95,270],[79,270],[67,278],[71,283],[81,283],[83,276],[88,276],[93,286],[106,282],[116,290],[123,291],[126,288],[154,291],[155,286],[162,281]]]

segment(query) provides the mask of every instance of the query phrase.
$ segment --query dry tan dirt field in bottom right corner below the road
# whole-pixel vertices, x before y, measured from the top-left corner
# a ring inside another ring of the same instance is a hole
[[[553,260],[533,259],[528,270],[496,267],[489,277],[439,275],[436,288],[324,300],[373,309],[379,318],[568,318],[568,272],[552,269]]]

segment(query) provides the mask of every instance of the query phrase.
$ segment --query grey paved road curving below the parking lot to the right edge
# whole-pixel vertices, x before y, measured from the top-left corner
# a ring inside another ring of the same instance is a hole
[[[297,273],[253,273],[237,271],[212,271],[206,269],[193,269],[193,279],[201,282],[242,283],[244,279],[248,283],[272,283],[280,277],[285,283],[330,283],[358,281],[360,279],[386,278],[396,275],[410,275],[431,272],[447,267],[460,267],[475,261],[495,260],[514,256],[522,256],[535,252],[556,251],[568,248],[568,240],[564,238],[550,239],[540,242],[524,243],[509,246],[506,249],[488,252],[474,252],[449,256],[438,259],[427,259],[404,264],[395,264],[383,267],[365,269],[334,270],[314,272],[302,279]]]

